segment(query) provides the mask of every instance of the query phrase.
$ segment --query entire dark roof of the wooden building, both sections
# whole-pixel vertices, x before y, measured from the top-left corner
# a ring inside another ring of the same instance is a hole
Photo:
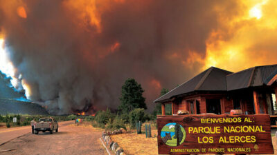
[[[154,103],[170,101],[175,96],[195,91],[231,91],[267,85],[276,74],[277,65],[257,66],[235,73],[211,67],[159,97]]]

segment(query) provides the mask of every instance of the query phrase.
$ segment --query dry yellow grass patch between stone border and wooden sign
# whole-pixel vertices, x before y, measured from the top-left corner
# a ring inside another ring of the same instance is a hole
[[[158,154],[157,130],[152,130],[152,138],[146,138],[145,134],[117,134],[111,136],[125,154],[154,155]]]

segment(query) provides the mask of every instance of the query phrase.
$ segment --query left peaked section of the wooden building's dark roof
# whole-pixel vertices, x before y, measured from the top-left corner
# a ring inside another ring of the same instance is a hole
[[[193,79],[190,79],[189,81],[179,85],[167,94],[159,97],[159,99],[156,99],[154,102],[159,103],[162,101],[167,101],[179,94],[186,94],[197,90],[226,91],[226,75],[232,73],[233,72],[222,70],[220,68],[208,68],[208,70],[205,70],[204,72],[193,77]]]

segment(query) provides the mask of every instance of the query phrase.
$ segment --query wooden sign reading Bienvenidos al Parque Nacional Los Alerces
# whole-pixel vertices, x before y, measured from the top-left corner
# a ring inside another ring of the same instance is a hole
[[[157,116],[159,154],[274,154],[268,114]]]

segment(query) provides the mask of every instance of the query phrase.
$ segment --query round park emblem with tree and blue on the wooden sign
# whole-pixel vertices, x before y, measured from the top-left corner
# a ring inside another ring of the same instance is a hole
[[[179,146],[185,138],[186,131],[178,123],[168,123],[161,129],[161,140],[168,146]]]

